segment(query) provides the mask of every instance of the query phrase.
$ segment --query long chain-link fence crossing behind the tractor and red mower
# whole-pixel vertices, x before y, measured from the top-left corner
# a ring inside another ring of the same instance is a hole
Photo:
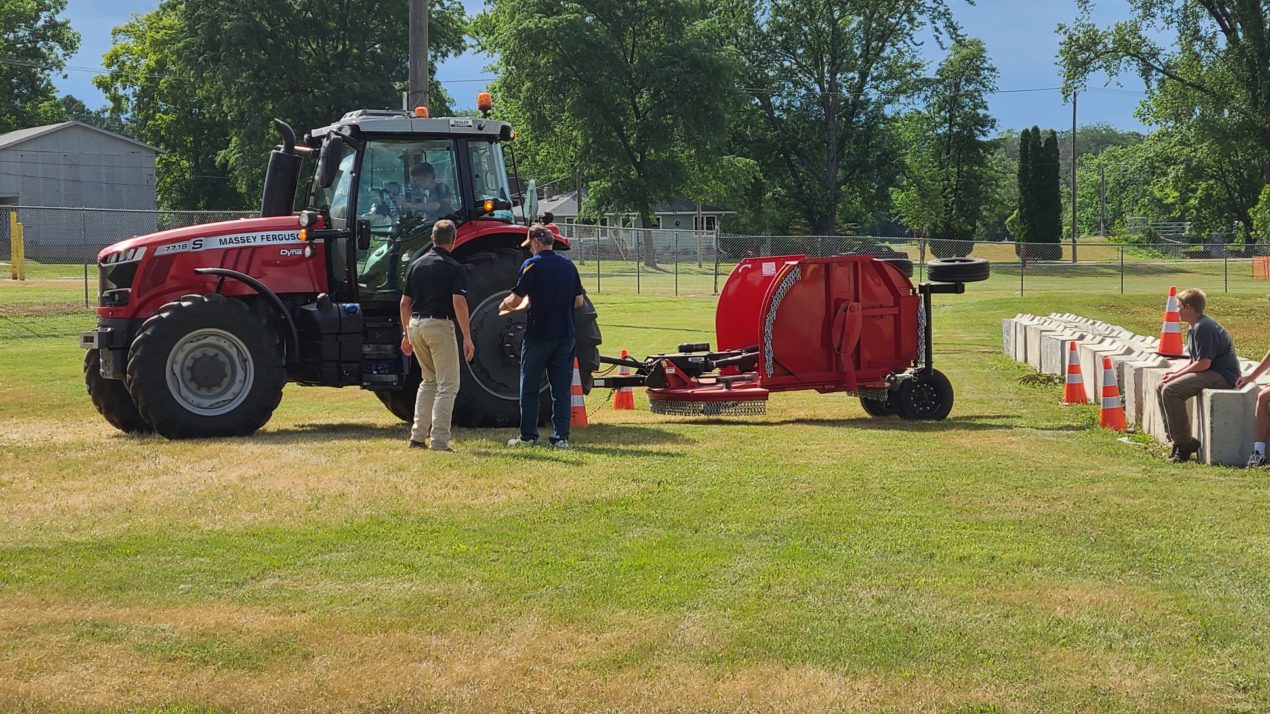
[[[135,236],[249,212],[117,211],[0,206],[0,339],[70,335],[91,321],[97,301],[97,253]],[[10,216],[25,234],[25,280],[10,280]],[[1162,293],[1170,285],[1210,293],[1270,292],[1270,257],[1224,245],[935,241],[866,235],[729,235],[566,224],[588,291],[597,295],[710,296],[744,258],[869,254],[912,262],[913,280],[939,255],[992,262],[992,278],[974,286],[982,296],[1035,292]]]

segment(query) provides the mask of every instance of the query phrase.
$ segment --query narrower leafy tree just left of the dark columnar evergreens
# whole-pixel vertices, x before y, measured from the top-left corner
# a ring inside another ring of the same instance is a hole
[[[983,42],[959,39],[922,93],[925,108],[907,122],[895,207],[911,227],[926,231],[940,258],[970,253],[996,184],[987,140],[996,126],[987,100],[996,77]]]

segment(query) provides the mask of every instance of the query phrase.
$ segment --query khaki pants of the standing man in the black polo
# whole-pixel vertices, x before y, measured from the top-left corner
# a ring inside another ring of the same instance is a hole
[[[455,398],[458,396],[458,339],[455,337],[455,324],[436,318],[410,318],[408,334],[414,357],[423,371],[414,401],[410,440],[423,443],[431,437],[431,448],[448,448],[450,418],[455,412]]]

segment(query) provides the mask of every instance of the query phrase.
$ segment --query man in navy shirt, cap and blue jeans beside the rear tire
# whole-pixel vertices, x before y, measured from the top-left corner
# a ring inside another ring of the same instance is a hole
[[[569,448],[569,387],[573,384],[575,333],[573,311],[582,307],[582,277],[578,268],[558,254],[555,234],[542,224],[530,226],[527,240],[533,257],[521,266],[521,277],[502,310],[516,310],[530,301],[525,343],[521,346],[521,436],[508,446],[538,441],[538,385],[542,372],[551,386],[551,446]]]

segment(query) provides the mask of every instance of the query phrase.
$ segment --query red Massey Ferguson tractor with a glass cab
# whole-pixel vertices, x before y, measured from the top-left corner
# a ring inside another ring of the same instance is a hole
[[[503,163],[512,127],[362,109],[297,145],[276,125],[283,144],[269,156],[259,219],[138,236],[98,254],[98,327],[80,342],[102,415],[124,432],[169,438],[250,434],[290,381],[359,386],[409,421],[419,367],[401,353],[398,302],[432,225],[451,219],[476,343],[455,423],[517,424],[525,313],[498,314],[528,257]],[[297,213],[310,155],[316,168]],[[601,342],[589,300],[577,325],[589,389]],[[542,408],[546,419],[549,399]]]

